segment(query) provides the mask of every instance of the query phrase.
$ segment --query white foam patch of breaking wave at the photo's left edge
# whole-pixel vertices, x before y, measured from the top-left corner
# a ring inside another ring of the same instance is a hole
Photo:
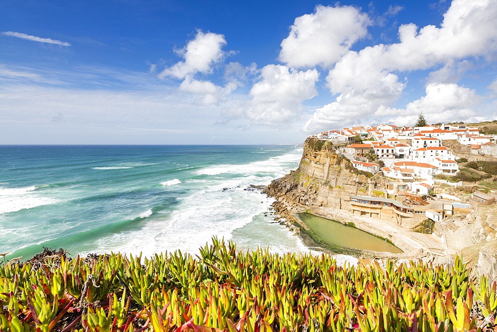
[[[58,202],[55,198],[37,195],[35,189],[35,186],[23,188],[0,187],[0,214]]]

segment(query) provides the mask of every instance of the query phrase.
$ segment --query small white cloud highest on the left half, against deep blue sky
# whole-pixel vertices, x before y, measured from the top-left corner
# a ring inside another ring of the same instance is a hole
[[[184,48],[175,51],[184,61],[166,68],[159,74],[159,78],[171,76],[184,79],[187,75],[210,73],[212,66],[225,57],[226,54],[221,50],[224,45],[226,40],[223,35],[198,30],[193,40]]]

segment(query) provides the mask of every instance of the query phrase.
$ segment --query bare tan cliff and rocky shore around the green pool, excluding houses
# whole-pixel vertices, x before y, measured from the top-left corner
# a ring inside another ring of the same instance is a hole
[[[424,235],[412,232],[412,225],[401,227],[384,220],[352,215],[349,196],[368,195],[369,191],[384,185],[389,179],[357,171],[350,167],[348,160],[337,155],[331,145],[322,142],[307,140],[299,168],[262,188],[264,194],[275,199],[271,211],[277,215],[275,222],[286,225],[306,246],[331,253],[335,252],[317,241],[297,214],[310,212],[343,224],[353,222],[357,228],[388,239],[404,251],[400,254],[367,250],[349,253],[355,257],[380,262],[387,258],[397,261],[422,259],[443,264],[452,261],[454,254],[463,253],[464,260],[474,266],[477,273],[497,278],[495,206],[478,207],[468,215],[446,220],[456,242],[453,248],[447,248],[441,241],[440,229],[437,228],[434,235]]]

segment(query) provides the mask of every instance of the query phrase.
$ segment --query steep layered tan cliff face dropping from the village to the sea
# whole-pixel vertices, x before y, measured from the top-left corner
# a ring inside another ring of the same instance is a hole
[[[350,195],[368,195],[386,182],[385,178],[354,168],[333,151],[329,141],[308,138],[299,168],[272,181],[264,192],[276,198],[278,211],[295,211],[298,207],[348,210]]]

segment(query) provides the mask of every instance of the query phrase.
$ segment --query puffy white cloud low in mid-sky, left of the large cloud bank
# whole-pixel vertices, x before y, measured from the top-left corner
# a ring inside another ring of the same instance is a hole
[[[237,101],[225,111],[231,117],[244,117],[250,124],[280,126],[295,120],[302,102],[317,94],[316,69],[297,71],[282,65],[267,65],[250,89],[250,100]]]

